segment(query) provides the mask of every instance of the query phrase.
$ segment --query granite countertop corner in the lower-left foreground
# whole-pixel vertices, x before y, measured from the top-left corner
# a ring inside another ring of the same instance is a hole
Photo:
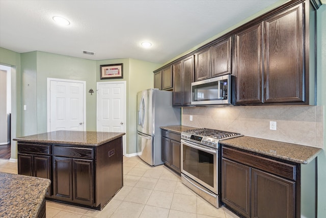
[[[36,217],[51,181],[0,172],[0,217]]]

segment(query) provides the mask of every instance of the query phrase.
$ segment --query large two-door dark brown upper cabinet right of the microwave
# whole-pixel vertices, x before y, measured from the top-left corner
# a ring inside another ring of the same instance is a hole
[[[290,7],[235,34],[237,105],[305,103],[309,68],[308,72],[304,69],[303,5]]]

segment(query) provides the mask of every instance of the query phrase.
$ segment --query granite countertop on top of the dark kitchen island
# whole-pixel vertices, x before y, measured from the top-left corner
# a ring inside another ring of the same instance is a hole
[[[125,135],[119,132],[91,132],[91,131],[67,131],[59,130],[54,132],[40,133],[14,138],[16,141],[30,141],[43,143],[64,143],[81,146],[99,146],[108,141]]]

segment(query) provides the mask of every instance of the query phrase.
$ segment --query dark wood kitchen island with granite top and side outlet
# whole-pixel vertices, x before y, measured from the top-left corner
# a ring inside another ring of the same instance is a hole
[[[48,200],[101,210],[123,186],[124,134],[61,130],[15,138],[18,174],[50,179]]]

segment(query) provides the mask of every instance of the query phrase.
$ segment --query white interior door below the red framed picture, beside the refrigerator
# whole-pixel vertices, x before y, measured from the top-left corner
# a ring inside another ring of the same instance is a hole
[[[125,81],[97,83],[97,131],[126,132],[125,94]],[[125,151],[125,135],[123,136],[123,151]]]

